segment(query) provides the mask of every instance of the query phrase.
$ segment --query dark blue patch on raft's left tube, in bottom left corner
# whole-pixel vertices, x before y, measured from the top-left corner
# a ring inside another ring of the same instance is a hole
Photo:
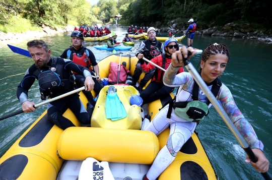
[[[17,179],[28,163],[27,156],[18,154],[0,164],[0,179]]]

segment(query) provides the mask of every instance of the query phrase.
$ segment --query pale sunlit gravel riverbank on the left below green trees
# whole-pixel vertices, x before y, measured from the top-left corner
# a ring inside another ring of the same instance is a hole
[[[57,33],[71,32],[73,30],[74,30],[74,26],[67,25],[65,28],[58,28],[56,30],[48,26],[43,26],[42,30],[40,31],[27,31],[24,33],[11,33],[11,32],[4,33],[0,31],[0,41],[11,41],[11,40],[20,41],[20,40],[29,39],[29,38],[37,39],[43,36],[51,36]]]

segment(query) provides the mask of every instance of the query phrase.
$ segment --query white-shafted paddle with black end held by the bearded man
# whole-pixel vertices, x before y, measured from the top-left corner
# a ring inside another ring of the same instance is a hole
[[[39,106],[41,106],[41,105],[43,105],[43,104],[47,104],[47,103],[49,103],[49,102],[55,101],[55,100],[60,99],[60,98],[62,98],[62,97],[66,97],[66,96],[69,96],[69,95],[74,94],[74,93],[76,93],[76,92],[83,91],[83,90],[85,90],[85,87],[84,87],[84,86],[81,87],[81,88],[79,88],[79,89],[75,89],[75,90],[73,90],[73,91],[70,91],[70,92],[67,92],[67,93],[65,93],[65,94],[62,94],[62,95],[60,95],[60,96],[54,97],[54,98],[52,98],[52,99],[48,99],[47,101],[44,101],[44,102],[35,104],[35,105],[33,105],[33,107],[34,107],[34,108],[37,108],[37,107],[39,107]],[[21,109],[21,110],[15,111],[15,112],[13,112],[13,113],[7,114],[7,115],[5,115],[5,116],[3,116],[3,117],[0,117],[0,121],[2,121],[3,119],[9,118],[9,117],[15,116],[15,115],[17,115],[17,114],[21,114],[21,113],[23,113],[23,112],[24,112],[23,109]]]

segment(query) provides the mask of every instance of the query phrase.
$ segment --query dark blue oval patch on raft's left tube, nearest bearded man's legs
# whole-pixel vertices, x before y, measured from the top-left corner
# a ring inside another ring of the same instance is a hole
[[[41,143],[54,124],[48,119],[47,113],[40,121],[21,139],[20,147],[32,147]]]

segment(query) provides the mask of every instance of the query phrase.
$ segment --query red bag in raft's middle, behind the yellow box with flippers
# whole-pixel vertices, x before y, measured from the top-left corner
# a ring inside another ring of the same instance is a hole
[[[109,69],[109,84],[116,84],[118,79],[119,64],[110,62]],[[120,65],[119,83],[124,84],[126,82],[127,75],[131,75],[130,71],[123,65]]]

